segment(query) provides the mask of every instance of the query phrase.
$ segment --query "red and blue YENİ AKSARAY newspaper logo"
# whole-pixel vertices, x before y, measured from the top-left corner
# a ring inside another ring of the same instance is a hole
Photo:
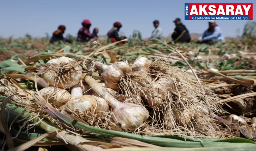
[[[252,20],[252,3],[185,3],[185,20]]]

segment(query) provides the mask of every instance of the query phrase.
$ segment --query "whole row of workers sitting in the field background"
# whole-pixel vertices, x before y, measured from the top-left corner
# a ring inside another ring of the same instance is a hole
[[[184,26],[184,24],[181,22],[180,18],[176,18],[174,21],[175,23],[175,29],[171,35],[171,38],[174,42],[190,42],[191,37],[189,35],[189,31]],[[150,38],[162,38],[162,29],[159,27],[159,21],[154,20],[153,25],[155,29],[152,32],[152,35]],[[91,27],[91,21],[88,19],[85,19],[82,22],[82,28],[79,29],[77,33],[77,41],[79,42],[89,42],[93,40],[98,39],[98,28],[93,29],[93,33],[90,33],[89,29]],[[107,32],[108,39],[114,43],[117,41],[121,41],[123,39],[126,39],[125,35],[119,35],[119,30],[122,27],[122,24],[120,22],[115,22],[113,25],[113,28]],[[51,39],[51,43],[54,43],[56,41],[64,41],[71,43],[70,40],[63,37],[63,34],[66,30],[66,27],[61,25],[58,27],[58,30],[53,33],[53,37]],[[146,40],[148,41],[148,40]],[[209,20],[209,28],[203,32],[203,34],[198,38],[197,43],[210,43],[210,42],[224,42],[225,39],[223,37],[222,31],[220,27],[216,24],[215,20]]]

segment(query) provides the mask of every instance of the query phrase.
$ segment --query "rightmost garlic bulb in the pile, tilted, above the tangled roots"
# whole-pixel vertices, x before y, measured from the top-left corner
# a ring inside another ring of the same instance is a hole
[[[152,108],[162,108],[162,104],[166,100],[168,91],[171,91],[172,87],[173,81],[169,78],[161,78],[154,82],[151,88],[151,92],[147,93],[147,97],[145,97],[148,105]]]

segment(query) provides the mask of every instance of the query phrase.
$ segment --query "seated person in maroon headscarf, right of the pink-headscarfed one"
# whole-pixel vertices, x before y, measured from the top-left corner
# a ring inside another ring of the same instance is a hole
[[[126,39],[125,35],[119,36],[118,34],[121,27],[122,24],[120,22],[115,22],[114,27],[107,32],[107,36],[112,43]]]

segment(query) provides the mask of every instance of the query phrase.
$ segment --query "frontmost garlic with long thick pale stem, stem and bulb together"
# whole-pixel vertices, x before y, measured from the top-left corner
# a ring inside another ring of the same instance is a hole
[[[85,82],[113,108],[111,122],[112,130],[133,131],[149,118],[149,111],[142,105],[122,103],[102,88],[94,78],[86,75]]]

